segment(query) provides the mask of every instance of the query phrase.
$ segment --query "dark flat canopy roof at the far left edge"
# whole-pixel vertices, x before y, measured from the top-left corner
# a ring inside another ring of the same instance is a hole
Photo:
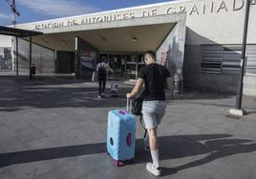
[[[0,34],[17,36],[17,37],[28,37],[28,36],[34,36],[34,35],[41,35],[43,33],[39,31],[21,30],[16,28],[8,28],[8,27],[0,26]]]

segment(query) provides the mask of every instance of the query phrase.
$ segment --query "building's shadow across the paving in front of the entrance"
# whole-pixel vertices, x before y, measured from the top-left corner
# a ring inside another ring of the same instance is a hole
[[[90,85],[84,84],[85,82],[85,80],[50,77],[32,80],[0,78],[0,111],[12,112],[30,108],[120,108],[126,104],[125,93],[132,88],[119,88],[119,97],[117,98],[97,99],[96,85],[90,87]],[[110,89],[107,90],[110,93]],[[181,99],[222,99],[229,97],[227,94],[218,93],[217,95],[212,92],[189,91],[182,94]]]

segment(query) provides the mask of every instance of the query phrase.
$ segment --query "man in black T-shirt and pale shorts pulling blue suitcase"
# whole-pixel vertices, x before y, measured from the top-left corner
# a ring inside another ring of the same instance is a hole
[[[156,63],[156,53],[152,50],[144,54],[146,66],[139,70],[138,81],[134,89],[126,94],[127,98],[137,95],[139,89],[145,86],[142,104],[142,115],[149,135],[149,147],[153,163],[147,163],[146,169],[156,176],[160,176],[159,139],[158,126],[165,113],[165,92],[172,90],[172,78],[170,72]]]

